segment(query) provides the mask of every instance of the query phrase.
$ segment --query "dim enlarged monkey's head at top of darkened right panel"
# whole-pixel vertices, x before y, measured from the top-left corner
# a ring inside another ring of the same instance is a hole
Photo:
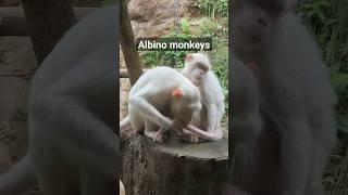
[[[272,39],[277,21],[296,5],[296,0],[235,0],[233,6],[236,50],[262,49]]]

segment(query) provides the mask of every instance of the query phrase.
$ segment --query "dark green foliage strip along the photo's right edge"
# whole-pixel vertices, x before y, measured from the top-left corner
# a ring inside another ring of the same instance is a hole
[[[336,110],[339,142],[323,181],[327,190],[337,190],[341,185],[341,169],[338,165],[348,155],[348,1],[300,0],[298,13],[307,26],[313,29],[338,95]]]

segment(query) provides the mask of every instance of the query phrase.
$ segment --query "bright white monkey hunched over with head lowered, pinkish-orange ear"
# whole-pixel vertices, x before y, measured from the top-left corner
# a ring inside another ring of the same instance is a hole
[[[188,123],[192,114],[201,109],[198,89],[165,66],[141,75],[129,91],[128,102],[128,116],[120,122],[120,130],[132,126],[156,142],[162,142],[163,133],[170,129],[181,132],[181,123]]]

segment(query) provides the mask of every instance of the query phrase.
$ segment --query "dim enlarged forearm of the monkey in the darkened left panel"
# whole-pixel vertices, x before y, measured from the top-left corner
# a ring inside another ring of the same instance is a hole
[[[73,96],[45,95],[29,103],[32,116],[44,123],[52,123],[62,139],[96,156],[108,156],[100,162],[113,164],[119,152],[119,138],[115,130],[91,113],[83,101]],[[100,167],[100,165],[96,165]]]

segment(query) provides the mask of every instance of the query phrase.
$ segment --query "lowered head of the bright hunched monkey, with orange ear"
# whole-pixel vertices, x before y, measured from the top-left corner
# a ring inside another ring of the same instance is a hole
[[[182,84],[172,92],[171,110],[176,119],[188,123],[195,112],[202,107],[199,90],[195,86]]]

